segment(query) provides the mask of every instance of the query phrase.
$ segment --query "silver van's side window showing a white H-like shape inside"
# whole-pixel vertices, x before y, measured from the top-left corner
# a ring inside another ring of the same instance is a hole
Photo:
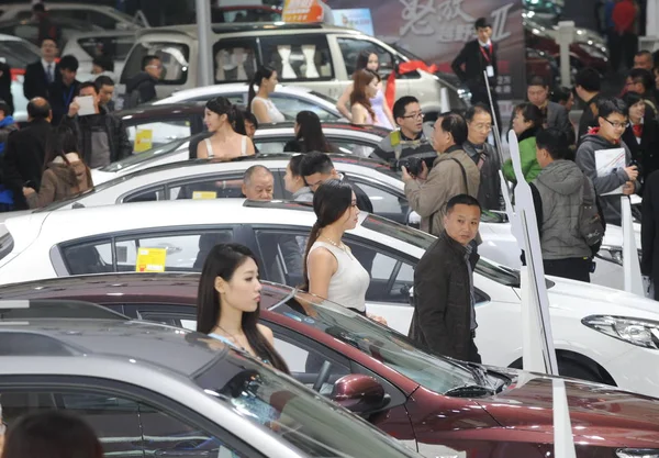
[[[334,78],[325,35],[280,35],[260,38],[264,64],[280,81],[321,81]]]

